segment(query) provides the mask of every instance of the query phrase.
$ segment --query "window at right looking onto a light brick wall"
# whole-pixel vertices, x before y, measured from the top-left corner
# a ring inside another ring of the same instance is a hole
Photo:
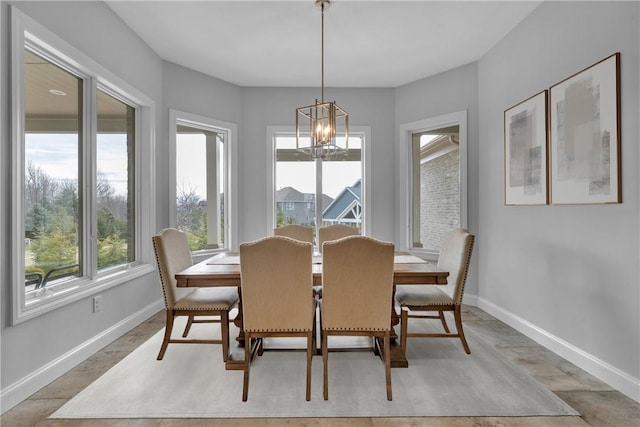
[[[406,248],[435,259],[444,235],[466,227],[466,112],[402,125],[399,179]],[[407,218],[407,219],[405,219]]]

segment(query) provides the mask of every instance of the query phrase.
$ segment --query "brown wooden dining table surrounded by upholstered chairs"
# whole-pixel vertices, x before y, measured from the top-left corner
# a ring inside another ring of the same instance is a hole
[[[313,255],[313,285],[322,286],[322,255]],[[393,264],[393,292],[395,296],[396,285],[446,285],[449,272],[438,268],[435,263],[423,260],[415,255],[397,252],[394,256]],[[240,254],[235,252],[221,252],[192,266],[179,271],[175,275],[176,285],[180,288],[202,288],[216,286],[234,286],[240,288],[242,280],[240,275]],[[398,335],[394,326],[400,322],[400,317],[396,312],[395,297],[392,299],[391,310],[391,367],[406,368],[409,366],[406,355],[402,352],[401,346],[397,342]],[[233,320],[238,327],[239,333],[236,338],[237,347],[244,347],[244,330],[242,328],[242,299],[238,302],[238,314]],[[381,342],[377,343],[378,346]],[[383,354],[376,351],[378,354]],[[234,355],[239,355],[234,357]],[[226,362],[226,369],[241,370],[244,364],[244,350],[231,351]]]

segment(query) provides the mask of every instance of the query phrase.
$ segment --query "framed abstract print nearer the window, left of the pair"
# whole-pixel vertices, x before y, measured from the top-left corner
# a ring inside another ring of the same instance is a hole
[[[548,184],[548,91],[504,112],[505,205],[546,205]]]

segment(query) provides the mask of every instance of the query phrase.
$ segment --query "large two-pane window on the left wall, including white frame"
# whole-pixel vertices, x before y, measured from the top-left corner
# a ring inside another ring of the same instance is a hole
[[[153,199],[136,197],[154,191],[153,113],[148,98],[15,8],[12,20],[19,323],[153,270],[140,244],[154,228]]]

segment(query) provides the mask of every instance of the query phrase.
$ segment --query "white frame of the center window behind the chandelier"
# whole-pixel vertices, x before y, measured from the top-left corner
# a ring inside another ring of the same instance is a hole
[[[273,228],[276,226],[276,136],[292,136],[295,137],[295,127],[293,126],[267,126],[267,146],[270,147],[269,161],[267,162],[267,212],[265,223],[265,235],[269,236],[273,233]],[[372,209],[371,209],[371,150],[369,145],[371,144],[371,127],[369,126],[350,126],[350,136],[359,136],[362,138],[362,147],[360,162],[362,167],[362,193],[361,193],[361,205],[362,205],[362,230],[363,235],[371,233],[372,224]],[[321,162],[322,160],[317,160]],[[330,161],[330,160],[329,160]],[[316,179],[316,187],[318,185]],[[326,207],[326,206],[324,206]],[[323,208],[324,208],[323,207]],[[320,226],[320,225],[317,225]]]

